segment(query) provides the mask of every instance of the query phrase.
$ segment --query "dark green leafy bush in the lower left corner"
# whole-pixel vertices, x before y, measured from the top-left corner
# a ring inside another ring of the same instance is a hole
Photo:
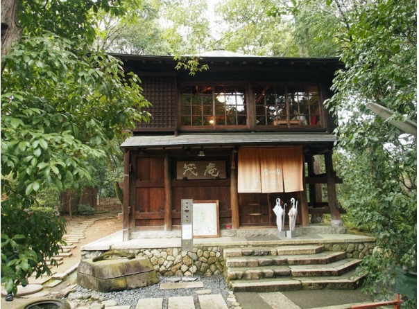
[[[51,274],[45,258],[58,254],[65,220],[55,213],[23,209],[20,200],[1,202],[1,283],[16,293],[16,283],[28,284],[31,274]],[[51,265],[57,265],[51,260]]]

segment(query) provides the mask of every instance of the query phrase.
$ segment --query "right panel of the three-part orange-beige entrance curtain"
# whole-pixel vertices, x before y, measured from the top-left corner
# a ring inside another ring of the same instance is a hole
[[[302,191],[302,148],[282,148],[284,192]]]

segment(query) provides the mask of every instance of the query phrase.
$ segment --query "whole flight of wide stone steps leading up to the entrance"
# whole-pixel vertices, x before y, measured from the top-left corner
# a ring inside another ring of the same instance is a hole
[[[350,290],[363,276],[355,275],[362,260],[323,245],[289,245],[224,249],[225,278],[234,292],[288,290]]]

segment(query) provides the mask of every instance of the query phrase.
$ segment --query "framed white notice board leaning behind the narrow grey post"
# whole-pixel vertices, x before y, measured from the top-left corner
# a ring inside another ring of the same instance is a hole
[[[219,201],[194,200],[194,238],[220,237]]]

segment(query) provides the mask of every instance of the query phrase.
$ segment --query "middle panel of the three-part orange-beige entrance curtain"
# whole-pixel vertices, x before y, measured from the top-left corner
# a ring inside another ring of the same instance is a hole
[[[282,156],[280,148],[259,149],[262,193],[284,192]]]

